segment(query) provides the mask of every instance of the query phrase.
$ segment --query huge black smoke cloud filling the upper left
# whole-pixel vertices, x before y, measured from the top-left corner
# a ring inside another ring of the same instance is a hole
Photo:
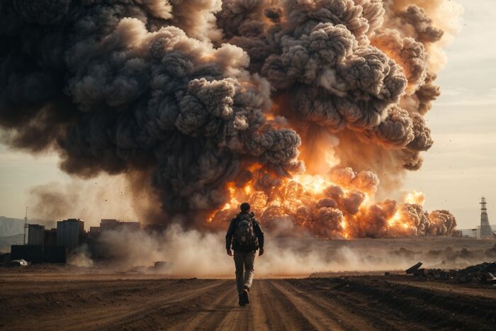
[[[79,176],[152,168],[169,213],[220,206],[242,162],[298,169],[300,138],[266,124],[247,55],[189,37],[166,3],[2,1],[9,143],[55,148]]]

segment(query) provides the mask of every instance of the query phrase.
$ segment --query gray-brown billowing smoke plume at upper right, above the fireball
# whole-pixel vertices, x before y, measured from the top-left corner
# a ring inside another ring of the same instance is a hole
[[[250,68],[261,67],[276,93],[293,99],[289,103],[298,120],[331,132],[355,130],[403,150],[405,167],[418,168],[419,151],[428,147],[410,142],[431,138],[425,123],[414,118],[438,96],[424,89],[432,83],[427,82],[424,43],[436,42],[442,31],[422,8],[412,5],[396,12],[389,2],[281,1],[278,20],[283,16],[285,23],[262,25],[267,22],[259,18],[267,12],[263,1],[225,1],[218,18],[229,42],[250,55]],[[254,20],[257,33],[242,35]],[[229,25],[232,21],[235,26]],[[412,32],[397,21],[412,26]],[[267,57],[274,47],[278,52]],[[400,101],[417,93],[417,106],[400,108]]]

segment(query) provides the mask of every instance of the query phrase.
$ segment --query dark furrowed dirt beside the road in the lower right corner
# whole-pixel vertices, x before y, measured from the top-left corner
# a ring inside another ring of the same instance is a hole
[[[358,311],[361,318],[378,328],[492,330],[496,322],[496,302],[491,298],[438,291],[436,286],[410,286],[367,277],[291,282],[311,293],[334,296],[340,305]]]

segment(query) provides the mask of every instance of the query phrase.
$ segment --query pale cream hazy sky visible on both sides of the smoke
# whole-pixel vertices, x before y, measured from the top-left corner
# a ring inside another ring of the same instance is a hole
[[[446,47],[448,62],[436,84],[442,95],[427,114],[434,146],[424,166],[405,176],[405,189],[422,191],[425,208],[447,209],[458,228],[480,222],[485,196],[496,223],[496,18],[494,0],[458,0],[461,32]],[[23,218],[33,186],[69,182],[57,155],[32,156],[0,144],[0,215]],[[36,215],[33,215],[36,217]]]

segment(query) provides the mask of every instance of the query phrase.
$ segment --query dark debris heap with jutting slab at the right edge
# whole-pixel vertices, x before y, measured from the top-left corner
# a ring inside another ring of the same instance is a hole
[[[419,262],[405,270],[406,274],[412,274],[415,277],[424,277],[427,279],[454,279],[460,283],[470,281],[480,281],[481,283],[496,284],[496,262],[484,262],[475,266],[466,267],[465,269],[427,269],[422,267]]]

